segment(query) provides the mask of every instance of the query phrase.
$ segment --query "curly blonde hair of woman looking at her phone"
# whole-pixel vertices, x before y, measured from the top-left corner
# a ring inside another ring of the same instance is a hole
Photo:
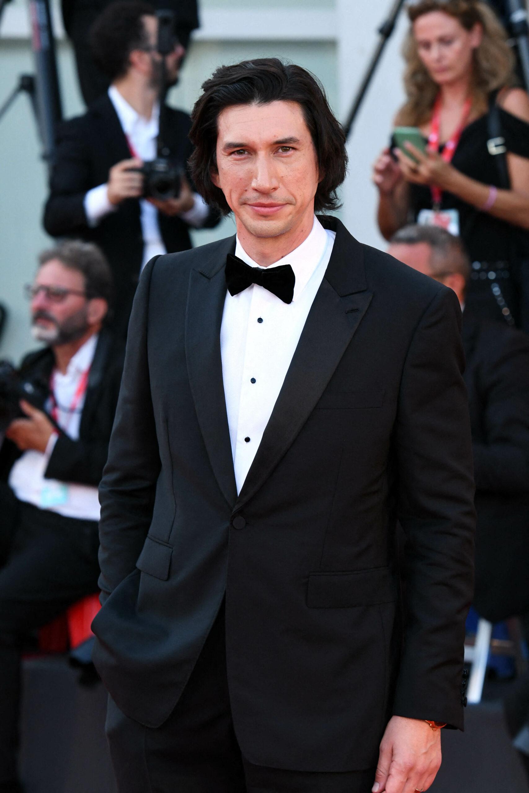
[[[466,29],[481,25],[483,38],[473,53],[473,110],[485,113],[491,91],[516,84],[515,58],[507,43],[507,33],[492,8],[480,0],[419,0],[408,6],[412,25],[404,40],[402,55],[406,63],[404,90],[407,101],[397,113],[397,124],[420,126],[430,121],[439,86],[422,63],[413,23],[425,13],[441,11],[454,17]]]

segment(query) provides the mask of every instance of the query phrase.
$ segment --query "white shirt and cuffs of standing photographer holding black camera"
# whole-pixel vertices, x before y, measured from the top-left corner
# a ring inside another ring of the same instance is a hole
[[[121,128],[127,136],[128,144],[132,147],[134,155],[140,157],[144,163],[155,159],[156,138],[159,130],[159,105],[153,107],[152,116],[148,120],[140,116],[140,113],[136,113],[136,110],[121,96],[116,86],[109,87],[109,99],[116,110]],[[204,223],[209,209],[198,193],[194,193],[194,201],[194,207],[187,212],[182,212],[179,216],[186,223],[199,228]],[[86,193],[84,208],[88,222],[95,226],[102,217],[115,212],[117,206],[109,201],[107,186],[104,184],[94,187]],[[141,199],[140,213],[141,231],[144,238],[143,269],[149,259],[155,255],[167,253],[167,251],[159,230],[158,209],[149,201]]]

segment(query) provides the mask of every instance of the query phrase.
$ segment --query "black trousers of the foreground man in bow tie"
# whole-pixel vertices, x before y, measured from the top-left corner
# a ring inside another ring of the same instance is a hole
[[[375,769],[309,773],[245,760],[233,730],[224,610],[173,713],[151,729],[109,698],[106,733],[119,793],[369,793]]]

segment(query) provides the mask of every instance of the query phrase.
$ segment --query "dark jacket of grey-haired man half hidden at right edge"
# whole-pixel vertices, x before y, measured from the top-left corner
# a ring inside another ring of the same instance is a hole
[[[529,338],[465,312],[477,542],[474,606],[485,619],[529,611]]]

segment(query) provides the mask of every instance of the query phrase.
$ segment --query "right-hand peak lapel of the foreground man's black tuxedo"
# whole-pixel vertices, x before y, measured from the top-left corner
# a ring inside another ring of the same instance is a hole
[[[355,335],[373,294],[366,291],[362,246],[338,224],[325,278],[316,293],[263,439],[236,501],[259,490],[309,418]]]

